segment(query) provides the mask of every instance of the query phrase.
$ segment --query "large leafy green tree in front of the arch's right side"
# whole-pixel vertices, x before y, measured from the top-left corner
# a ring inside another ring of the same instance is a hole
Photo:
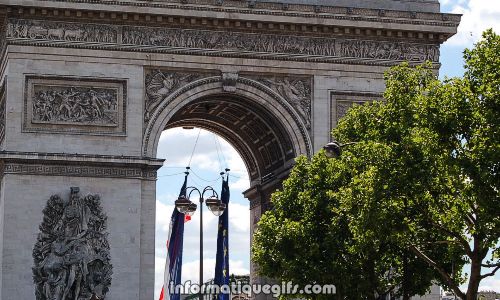
[[[300,158],[254,237],[263,275],[404,299],[435,280],[461,299],[500,268],[500,37],[465,51],[465,75],[430,65],[386,73],[381,102],[333,131],[338,159]],[[464,264],[470,268],[462,272]],[[468,280],[467,290],[459,285]]]

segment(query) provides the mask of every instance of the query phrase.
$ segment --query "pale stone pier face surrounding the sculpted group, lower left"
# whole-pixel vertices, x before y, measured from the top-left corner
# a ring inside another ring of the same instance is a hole
[[[162,160],[2,151],[0,161],[0,299],[35,299],[32,255],[40,239],[39,226],[44,218],[66,224],[59,216],[47,216],[44,208],[53,195],[67,203],[70,187],[79,187],[81,197],[97,194],[107,215],[103,232],[107,233],[113,274],[106,299],[153,299],[155,179]],[[51,228],[57,232],[55,228],[65,226]],[[44,257],[54,253],[51,244],[45,247]],[[66,245],[78,246],[69,239]],[[82,254],[78,247],[53,258],[70,266],[75,257],[95,259],[94,253]],[[73,265],[80,270],[80,265]]]

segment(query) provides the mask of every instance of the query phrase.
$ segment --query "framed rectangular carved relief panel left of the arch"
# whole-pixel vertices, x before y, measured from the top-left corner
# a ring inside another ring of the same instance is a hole
[[[27,76],[25,85],[25,131],[125,133],[125,81]]]

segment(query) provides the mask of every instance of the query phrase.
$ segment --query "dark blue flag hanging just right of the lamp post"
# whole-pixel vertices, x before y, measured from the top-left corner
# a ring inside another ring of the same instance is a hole
[[[218,286],[229,285],[229,176],[222,180],[222,203],[226,210],[219,217],[217,234],[217,257],[215,259],[214,284]],[[229,300],[229,294],[220,293],[218,300]]]

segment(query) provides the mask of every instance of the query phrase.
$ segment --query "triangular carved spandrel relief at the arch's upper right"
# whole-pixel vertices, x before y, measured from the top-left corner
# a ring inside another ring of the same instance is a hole
[[[272,89],[298,113],[307,129],[311,128],[312,80],[284,75],[247,76]]]

